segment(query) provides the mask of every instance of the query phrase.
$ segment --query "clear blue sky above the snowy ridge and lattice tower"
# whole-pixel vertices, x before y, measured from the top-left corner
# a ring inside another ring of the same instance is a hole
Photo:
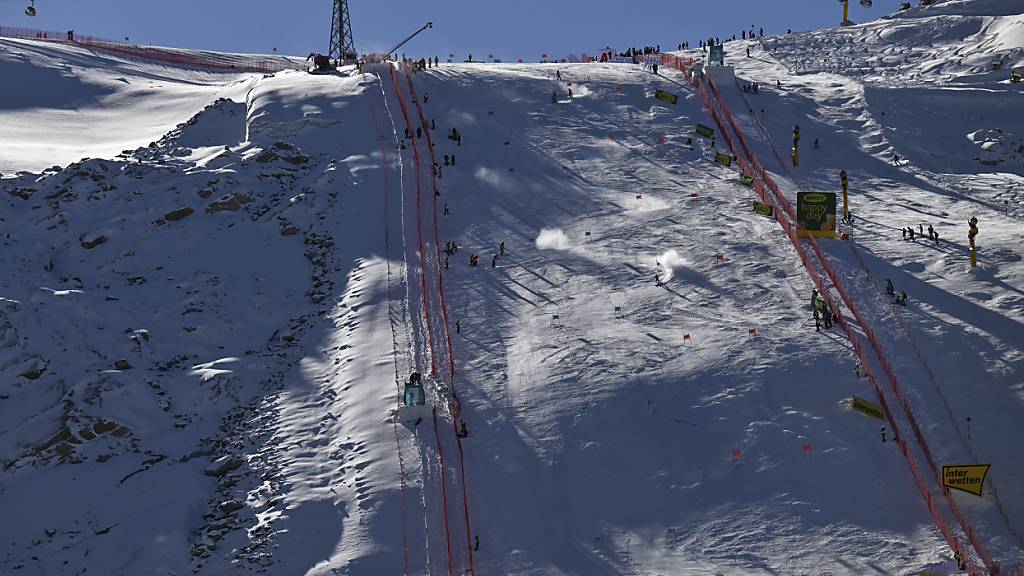
[[[224,51],[305,55],[326,51],[331,0],[36,0],[39,15],[26,16],[29,0],[0,0],[0,25],[63,31],[160,44]],[[872,19],[895,10],[898,0],[876,0],[872,8],[851,2],[851,18]],[[403,50],[410,55],[450,53],[463,59],[495,54],[506,61],[537,60],[591,52],[603,46],[682,41],[697,45],[709,35],[725,37],[764,27],[786,29],[835,26],[842,15],[836,0],[349,0],[356,49],[383,51],[427,20],[433,30]]]

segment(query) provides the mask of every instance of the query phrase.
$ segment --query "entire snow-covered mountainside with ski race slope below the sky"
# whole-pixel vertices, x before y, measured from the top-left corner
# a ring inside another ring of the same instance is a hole
[[[725,50],[0,38],[0,572],[1024,574],[1020,10]]]

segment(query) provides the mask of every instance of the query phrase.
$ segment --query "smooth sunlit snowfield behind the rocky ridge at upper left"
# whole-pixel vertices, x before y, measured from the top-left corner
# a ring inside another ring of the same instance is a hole
[[[218,97],[244,101],[255,78],[9,39],[0,39],[0,77],[16,87],[0,92],[2,174],[146,146]]]

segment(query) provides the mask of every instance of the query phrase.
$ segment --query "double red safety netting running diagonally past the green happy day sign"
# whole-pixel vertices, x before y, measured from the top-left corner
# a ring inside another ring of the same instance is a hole
[[[678,63],[676,63],[675,66],[677,68],[679,68],[684,74],[686,74],[687,77],[690,77],[690,74],[688,73],[688,70],[687,70],[687,68],[685,66],[679,66]],[[715,107],[712,106],[712,102],[711,102],[710,98],[707,95],[707,91],[703,89],[702,82],[700,82],[698,79],[691,78],[691,83],[694,85],[694,87],[700,93],[701,98],[703,99],[706,108],[708,109],[709,113],[711,113],[711,115],[715,119],[716,123],[719,125],[720,130],[722,130],[723,133],[727,134],[726,130],[724,129],[724,125],[722,123],[721,117],[718,115],[717,111],[715,110]],[[714,82],[712,82],[712,85],[714,86]],[[720,97],[720,94],[716,94],[716,95],[718,96],[717,99],[718,99],[719,107],[722,109],[723,113],[726,114],[729,117],[730,123],[732,124],[732,126],[734,128],[734,131],[737,134],[737,137],[742,138],[742,143],[745,145],[746,143],[745,142],[745,138],[742,137],[742,132],[740,130],[738,130],[738,128],[735,126],[734,120],[731,118],[731,113],[728,112],[728,107],[726,107],[725,102],[722,101],[722,99]],[[735,145],[732,141],[732,138],[726,136],[726,140],[727,140],[727,142],[729,142],[730,150],[733,153],[733,155],[738,158],[738,151],[736,150]],[[810,258],[808,257],[806,251],[803,249],[803,246],[802,246],[799,238],[796,236],[795,231],[793,230],[793,225],[790,223],[790,221],[787,221],[782,216],[781,212],[778,210],[779,205],[781,205],[781,207],[783,209],[785,209],[785,212],[787,214],[790,214],[791,217],[793,218],[793,220],[795,221],[796,218],[794,217],[794,214],[793,214],[793,207],[792,207],[792,205],[785,200],[784,196],[778,190],[777,184],[775,184],[774,180],[772,180],[771,177],[768,175],[767,171],[761,165],[760,161],[757,160],[757,157],[755,155],[753,155],[753,151],[751,152],[750,158],[751,158],[752,163],[754,164],[754,168],[756,168],[755,171],[757,172],[757,175],[762,180],[764,180],[765,184],[768,186],[769,190],[771,190],[774,193],[775,197],[777,198],[777,202],[775,200],[773,200],[772,198],[770,198],[765,193],[765,191],[763,189],[760,189],[759,187],[756,187],[759,197],[761,197],[762,200],[767,201],[767,203],[771,204],[775,208],[774,209],[774,213],[775,213],[776,220],[782,225],[783,230],[785,231],[786,237],[790,239],[790,242],[794,245],[794,248],[796,248],[798,254],[801,257],[801,261],[804,264],[804,268],[810,274],[813,283],[818,288],[818,291],[828,301],[829,305],[833,305],[833,307],[835,307],[837,310],[837,313],[838,313],[837,316],[838,316],[838,319],[840,321],[840,324],[843,327],[844,331],[847,333],[847,336],[850,338],[850,341],[853,344],[854,349],[857,352],[858,358],[860,358],[862,366],[864,366],[865,368],[868,367],[868,366],[870,366],[870,364],[867,363],[867,359],[866,359],[866,357],[863,354],[862,347],[860,346],[859,338],[856,337],[856,333],[852,330],[852,328],[850,328],[848,321],[846,320],[845,316],[842,313],[842,310],[840,310],[838,306],[835,306],[835,303],[833,301],[830,293],[825,289],[824,284],[821,282],[821,278],[817,275],[817,271],[814,269],[813,263],[811,262]],[[744,170],[744,173],[745,173],[745,170],[749,169],[748,167],[744,167],[744,164],[740,164],[740,167],[741,167],[741,169]],[[759,183],[759,182],[756,182],[756,183]],[[829,279],[833,281],[834,286],[840,292],[840,295],[843,296],[843,299],[846,301],[846,303],[847,303],[848,307],[850,308],[850,311],[857,318],[858,323],[860,323],[860,325],[861,325],[861,328],[863,330],[865,330],[865,334],[868,335],[868,340],[871,341],[871,345],[874,348],[876,356],[879,358],[880,362],[882,363],[884,371],[886,372],[887,377],[889,377],[889,379],[890,379],[890,383],[891,384],[895,383],[895,375],[892,372],[892,368],[889,365],[888,360],[886,359],[885,355],[882,353],[881,347],[878,346],[877,340],[873,338],[873,333],[870,332],[870,329],[867,327],[866,323],[863,322],[862,316],[859,314],[859,311],[853,304],[852,299],[849,298],[849,294],[846,293],[846,290],[843,289],[842,285],[838,282],[838,278],[836,277],[835,273],[831,271],[831,268],[827,264],[827,261],[824,259],[824,255],[821,253],[820,248],[817,246],[817,243],[814,241],[813,238],[811,239],[811,245],[812,245],[812,248],[814,249],[815,256],[818,257],[819,265],[821,265],[822,270],[824,270],[825,273],[829,276]],[[933,499],[931,497],[931,493],[928,490],[927,483],[925,482],[925,480],[924,480],[924,478],[923,478],[923,476],[922,476],[922,474],[920,471],[920,468],[915,464],[914,459],[913,459],[913,457],[912,457],[912,455],[910,453],[910,450],[907,448],[905,441],[903,441],[903,437],[899,436],[899,433],[897,431],[898,428],[896,427],[896,422],[893,419],[891,411],[888,409],[888,402],[885,399],[884,392],[882,390],[881,386],[879,386],[878,382],[874,380],[873,375],[870,375],[870,379],[872,381],[872,385],[874,385],[874,387],[876,387],[876,393],[879,395],[879,399],[880,399],[881,403],[883,404],[884,407],[886,407],[886,414],[887,414],[887,417],[888,417],[890,425],[893,426],[894,434],[897,435],[897,442],[899,443],[900,451],[903,453],[903,456],[905,457],[905,459],[907,461],[907,465],[910,468],[911,476],[913,477],[914,482],[918,485],[918,488],[919,488],[919,490],[922,493],[922,497],[924,498],[926,504],[928,505],[929,511],[931,512],[932,518],[933,518],[936,526],[939,528],[940,532],[942,532],[943,536],[945,537],[945,539],[946,539],[947,543],[950,545],[950,547],[953,550],[961,550],[962,547],[959,545],[958,539],[955,537],[955,535],[952,533],[952,531],[946,525],[945,520],[942,518],[941,513],[939,512],[938,508],[936,507],[936,505],[935,505],[935,503],[934,503],[934,501],[933,501]],[[911,427],[915,428],[915,430],[914,430],[915,435],[914,436],[918,437],[919,444],[920,444],[921,441],[923,440],[923,437],[920,436],[920,426],[916,425],[916,421],[915,421],[915,419],[913,419],[912,413],[909,413],[909,405],[905,402],[905,397],[903,397],[903,395],[902,395],[902,389],[898,387],[898,384],[896,384],[895,386],[893,386],[893,389],[897,394],[897,397],[901,400],[901,404],[904,405],[904,412],[906,412],[906,413],[909,414],[908,420],[911,423]],[[923,451],[925,452],[926,457],[929,458],[929,460],[930,460],[929,464],[932,465],[933,468],[934,468],[934,462],[931,460],[931,452],[929,450],[927,450],[927,449],[925,449]],[[940,486],[941,486],[941,481],[940,481]],[[998,573],[998,567],[994,563],[991,562],[991,558],[988,556],[987,550],[985,550],[984,546],[981,545],[980,541],[977,538],[977,535],[975,534],[975,532],[973,530],[973,527],[971,527],[967,523],[967,520],[963,517],[963,515],[959,513],[959,508],[956,506],[955,502],[952,501],[952,497],[949,494],[948,490],[943,490],[943,492],[944,492],[944,495],[946,496],[947,502],[949,502],[949,504],[950,504],[950,510],[953,512],[953,516],[956,517],[956,520],[961,524],[961,527],[964,530],[965,535],[968,537],[968,540],[971,541],[972,546],[975,547],[975,550],[979,553],[979,557],[982,558],[982,562],[984,562],[986,564],[986,567],[990,570],[990,572],[992,574],[997,574]],[[970,559],[969,557],[967,557],[967,558],[965,558],[965,560],[967,561],[968,572],[970,574],[972,574],[972,576],[976,575],[976,574],[980,576],[982,574],[982,572],[977,568],[977,566],[974,564],[974,562],[973,562],[972,559]]]

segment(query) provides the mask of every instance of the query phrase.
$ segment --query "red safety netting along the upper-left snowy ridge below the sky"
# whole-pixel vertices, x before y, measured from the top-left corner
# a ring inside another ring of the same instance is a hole
[[[147,60],[178,68],[203,69],[219,73],[273,74],[283,70],[302,70],[303,64],[284,56],[228,54],[205,50],[187,50],[161,46],[138,46],[128,42],[106,40],[93,36],[67,32],[35,30],[31,28],[0,27],[0,37],[38,40],[86,48],[98,53]]]

